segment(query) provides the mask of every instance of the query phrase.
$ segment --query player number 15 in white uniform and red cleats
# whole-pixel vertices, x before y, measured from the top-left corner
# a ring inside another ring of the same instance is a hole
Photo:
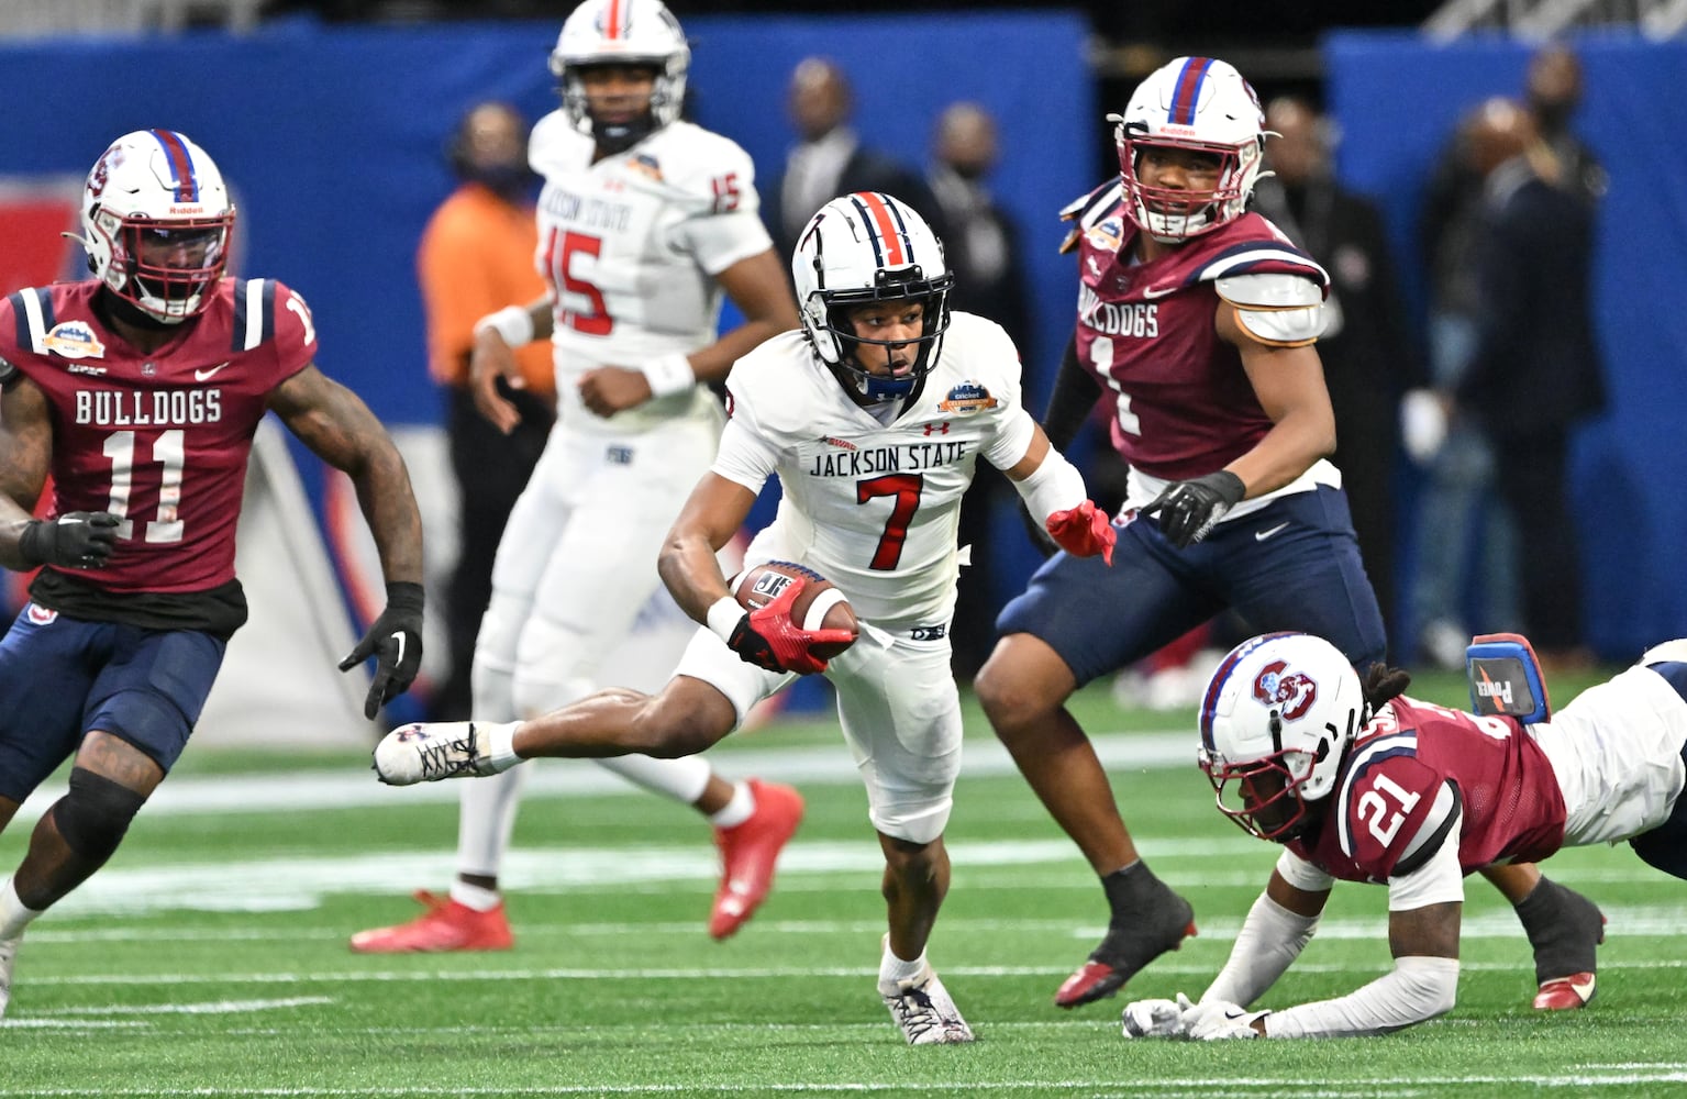
[[[749,155],[680,120],[688,64],[685,34],[658,0],[587,0],[550,56],[562,106],[528,147],[545,179],[535,262],[550,292],[484,317],[471,360],[476,405],[504,430],[520,419],[496,388],[499,378],[520,383],[511,348],[550,339],[558,395],[557,425],[499,542],[476,642],[474,712],[489,719],[666,679],[688,630],[641,635],[633,674],[612,677],[606,660],[651,596],[666,599],[656,550],[720,436],[720,403],[703,383],[798,322]],[[744,316],[725,334],[722,294]],[[710,819],[724,874],[709,932],[736,932],[801,819],[796,790],[729,783],[698,758],[604,766]],[[520,780],[464,787],[450,898],[418,893],[428,912],[359,932],[354,950],[511,945],[498,871]]]

